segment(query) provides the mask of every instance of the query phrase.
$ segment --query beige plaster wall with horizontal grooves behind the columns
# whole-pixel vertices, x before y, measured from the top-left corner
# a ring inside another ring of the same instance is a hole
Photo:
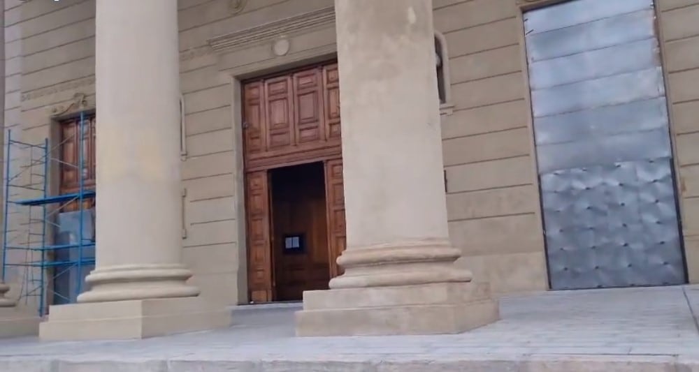
[[[657,0],[677,135],[682,213],[692,281],[699,281],[699,0]],[[179,0],[181,89],[187,156],[182,162],[185,261],[203,295],[247,297],[240,154],[240,78],[332,55],[332,24],[210,50],[207,40],[332,6],[333,0]],[[531,110],[515,0],[433,0],[447,40],[451,112],[442,116],[449,232],[459,265],[497,293],[545,290]],[[303,22],[298,22],[303,24]],[[51,115],[75,93],[94,106],[94,0],[6,0],[6,123],[22,140],[50,135]],[[71,112],[71,110],[69,110]],[[144,118],[144,123],[147,118]],[[134,133],[137,135],[137,133]],[[26,155],[26,154],[25,154]],[[27,161],[20,156],[13,167]],[[29,180],[26,180],[29,183]],[[22,230],[28,218],[13,226]],[[17,285],[15,285],[15,288]]]

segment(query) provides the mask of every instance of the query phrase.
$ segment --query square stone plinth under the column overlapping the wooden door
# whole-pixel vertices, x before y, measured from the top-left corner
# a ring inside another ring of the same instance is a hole
[[[297,336],[456,334],[500,318],[487,283],[431,283],[303,293]]]

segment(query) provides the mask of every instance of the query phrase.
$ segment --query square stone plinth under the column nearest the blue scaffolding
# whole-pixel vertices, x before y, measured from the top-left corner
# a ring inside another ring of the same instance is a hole
[[[42,341],[131,339],[226,328],[231,311],[201,297],[51,306]]]

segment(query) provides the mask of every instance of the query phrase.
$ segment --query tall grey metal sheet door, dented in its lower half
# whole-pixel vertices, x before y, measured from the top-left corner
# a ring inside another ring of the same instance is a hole
[[[685,282],[651,0],[524,15],[553,289]]]

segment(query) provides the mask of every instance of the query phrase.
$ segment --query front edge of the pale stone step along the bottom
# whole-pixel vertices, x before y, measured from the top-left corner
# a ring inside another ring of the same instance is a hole
[[[187,357],[168,359],[65,359],[6,358],[0,360],[3,372],[45,371],[362,371],[362,372],[451,372],[451,371],[565,371],[565,372],[676,372],[696,371],[697,364],[671,356],[629,355],[429,355],[326,359],[303,357],[265,360],[212,360]]]

